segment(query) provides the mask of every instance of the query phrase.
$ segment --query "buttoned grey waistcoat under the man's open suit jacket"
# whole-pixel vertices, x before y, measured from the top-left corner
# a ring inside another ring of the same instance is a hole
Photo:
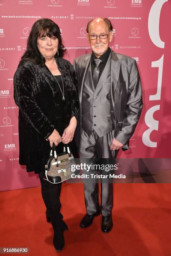
[[[112,131],[110,115],[110,59],[94,90],[91,61],[85,76],[82,90],[82,128],[90,135],[94,130],[99,137]]]

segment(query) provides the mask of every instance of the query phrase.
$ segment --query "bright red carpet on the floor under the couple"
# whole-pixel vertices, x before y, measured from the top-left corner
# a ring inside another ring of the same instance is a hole
[[[69,226],[61,255],[171,256],[171,185],[115,184],[114,228],[100,230],[101,216],[79,228],[85,213],[82,184],[64,184],[62,214]],[[58,255],[45,221],[41,188],[0,192],[0,247],[28,247],[28,255]],[[16,254],[15,254],[16,255]]]

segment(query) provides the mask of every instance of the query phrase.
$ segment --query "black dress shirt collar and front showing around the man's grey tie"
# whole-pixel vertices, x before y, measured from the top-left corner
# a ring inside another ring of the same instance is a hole
[[[99,73],[98,81],[99,81],[100,76],[101,76],[101,74],[102,74],[102,72],[103,72],[103,70],[104,70],[104,68],[105,68],[105,66],[106,66],[106,63],[107,63],[107,60],[108,60],[108,58],[109,58],[110,53],[111,53],[110,48],[108,48],[107,51],[106,51],[102,56],[100,56],[100,58],[99,58],[99,59],[101,59],[102,62],[101,62],[100,65],[99,65],[100,73]],[[97,57],[94,55],[94,53],[92,52],[92,56],[91,56],[92,77],[93,77],[94,69],[95,69],[95,67],[96,67],[96,64],[95,64],[95,62],[94,62],[94,59],[98,59],[98,58],[97,58]],[[97,82],[98,82],[98,81],[97,81]]]

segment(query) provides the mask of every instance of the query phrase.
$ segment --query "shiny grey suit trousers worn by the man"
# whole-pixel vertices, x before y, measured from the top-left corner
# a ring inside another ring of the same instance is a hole
[[[99,159],[107,161],[107,159],[114,159],[117,157],[118,150],[111,151],[110,144],[114,137],[114,131],[106,134],[103,137],[98,137],[97,133],[93,130],[90,136],[82,130],[82,139],[80,146],[80,159],[86,164],[98,163]],[[114,163],[114,162],[113,162]],[[99,170],[99,174],[106,174],[105,171]],[[97,171],[90,170],[83,171],[83,173],[96,174]],[[92,215],[98,211],[102,215],[107,216],[112,211],[113,206],[113,180],[101,179],[101,204],[99,204],[99,184],[98,179],[84,179],[84,195],[87,214]]]

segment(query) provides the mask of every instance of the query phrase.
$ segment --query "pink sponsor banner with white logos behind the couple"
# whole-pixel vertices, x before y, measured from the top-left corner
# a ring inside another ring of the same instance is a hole
[[[170,158],[171,1],[169,0],[1,0],[0,1],[0,190],[35,187],[39,179],[18,164],[18,107],[13,75],[33,23],[56,22],[71,63],[91,52],[86,27],[97,17],[110,19],[115,52],[134,58],[143,86],[143,112],[121,158]]]

